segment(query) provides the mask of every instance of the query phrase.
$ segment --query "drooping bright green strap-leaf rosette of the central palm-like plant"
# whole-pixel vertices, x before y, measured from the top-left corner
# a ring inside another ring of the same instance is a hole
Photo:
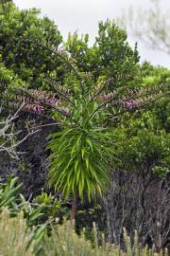
[[[49,183],[65,198],[73,194],[82,200],[87,193],[91,200],[96,193],[101,194],[109,181],[107,166],[113,158],[113,141],[109,129],[94,126],[95,119],[89,119],[92,113],[83,106],[80,111],[85,113],[84,118],[78,116],[78,126],[65,127],[50,136]]]

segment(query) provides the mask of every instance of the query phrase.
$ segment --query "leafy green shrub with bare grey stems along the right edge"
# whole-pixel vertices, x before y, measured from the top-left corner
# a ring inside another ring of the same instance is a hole
[[[120,164],[111,174],[112,182],[103,201],[110,242],[120,244],[125,227],[131,234],[137,229],[143,245],[154,244],[160,250],[169,245],[170,230],[170,72],[148,63],[141,65],[140,72],[141,89],[160,83],[166,90],[154,103],[124,114],[121,125],[114,127],[114,134],[119,135]]]

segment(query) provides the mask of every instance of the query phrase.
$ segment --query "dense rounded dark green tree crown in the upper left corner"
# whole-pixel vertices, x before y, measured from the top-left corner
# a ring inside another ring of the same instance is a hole
[[[31,88],[48,88],[46,80],[57,79],[60,64],[49,46],[58,47],[61,36],[37,9],[19,10],[0,5],[0,52],[2,62]]]

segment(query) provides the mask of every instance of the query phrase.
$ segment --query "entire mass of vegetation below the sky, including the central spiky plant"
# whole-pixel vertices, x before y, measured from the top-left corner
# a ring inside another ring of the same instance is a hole
[[[1,1],[0,255],[169,255],[169,89],[114,22],[90,46]]]

